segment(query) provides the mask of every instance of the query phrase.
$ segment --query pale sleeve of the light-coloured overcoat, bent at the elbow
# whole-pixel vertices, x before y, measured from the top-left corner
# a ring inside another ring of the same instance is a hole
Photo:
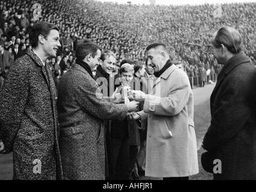
[[[144,102],[145,113],[175,116],[184,109],[189,100],[189,79],[185,73],[178,73],[175,78],[177,79],[169,86],[166,97],[147,95]],[[161,89],[164,89],[163,86],[161,86]]]

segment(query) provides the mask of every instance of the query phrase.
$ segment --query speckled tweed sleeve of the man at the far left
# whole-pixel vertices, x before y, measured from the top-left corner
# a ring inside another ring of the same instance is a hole
[[[29,92],[29,74],[24,67],[19,66],[21,65],[17,63],[11,65],[4,88],[0,92],[0,128],[7,153],[13,150]]]

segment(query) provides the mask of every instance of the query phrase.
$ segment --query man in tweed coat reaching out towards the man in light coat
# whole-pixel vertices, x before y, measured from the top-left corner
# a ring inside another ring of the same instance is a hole
[[[92,71],[99,65],[100,49],[82,43],[76,63],[59,83],[58,115],[64,179],[105,179],[104,119],[124,119],[139,102],[114,104],[103,99]]]

